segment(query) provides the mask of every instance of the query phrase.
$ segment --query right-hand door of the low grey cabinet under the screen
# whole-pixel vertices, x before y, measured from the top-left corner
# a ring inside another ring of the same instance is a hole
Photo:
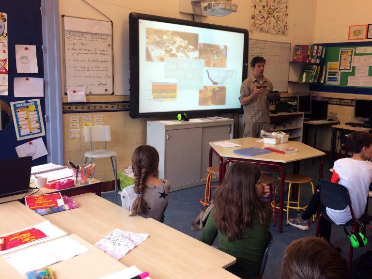
[[[209,142],[217,140],[229,140],[230,125],[203,127],[202,132],[202,166],[201,166],[201,179],[207,177],[207,168],[209,164]],[[218,166],[218,158],[213,154],[212,166]]]

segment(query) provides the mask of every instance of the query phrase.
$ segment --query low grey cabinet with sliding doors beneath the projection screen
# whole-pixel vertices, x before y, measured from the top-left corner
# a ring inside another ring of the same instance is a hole
[[[159,152],[159,178],[171,182],[171,190],[205,183],[209,142],[233,138],[233,119],[203,122],[148,121],[147,144]],[[213,165],[217,165],[217,158]]]

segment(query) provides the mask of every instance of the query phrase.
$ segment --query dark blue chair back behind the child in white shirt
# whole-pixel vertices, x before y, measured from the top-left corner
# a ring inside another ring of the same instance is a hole
[[[320,201],[328,208],[334,210],[344,210],[348,205],[351,208],[349,192],[346,187],[319,179]]]

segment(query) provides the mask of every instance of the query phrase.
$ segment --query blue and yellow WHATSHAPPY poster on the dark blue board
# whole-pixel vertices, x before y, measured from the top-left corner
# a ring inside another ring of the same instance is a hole
[[[11,102],[17,140],[45,136],[40,99]]]

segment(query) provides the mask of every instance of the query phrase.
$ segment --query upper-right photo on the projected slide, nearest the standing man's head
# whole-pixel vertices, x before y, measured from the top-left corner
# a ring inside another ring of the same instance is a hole
[[[227,46],[199,44],[199,58],[206,67],[226,68]]]

